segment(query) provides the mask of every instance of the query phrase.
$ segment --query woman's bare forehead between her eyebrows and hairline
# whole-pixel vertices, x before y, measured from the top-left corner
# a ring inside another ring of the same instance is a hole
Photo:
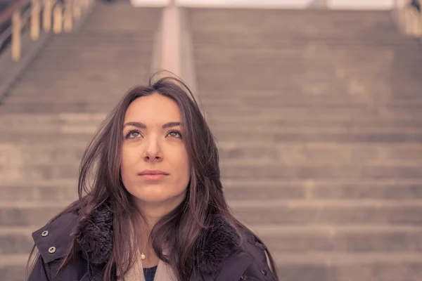
[[[177,103],[158,93],[134,100],[127,107],[124,122],[167,123],[181,121],[181,111]]]

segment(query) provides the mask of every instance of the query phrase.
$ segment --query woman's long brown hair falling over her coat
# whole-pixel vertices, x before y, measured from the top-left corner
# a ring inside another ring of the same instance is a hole
[[[65,210],[77,209],[80,216],[88,216],[104,202],[112,203],[113,250],[106,263],[105,281],[113,280],[116,270],[124,276],[132,266],[136,254],[132,243],[127,239],[134,219],[134,205],[120,175],[124,115],[136,98],[159,93],[179,105],[184,122],[184,141],[191,163],[191,178],[185,200],[170,214],[161,218],[151,231],[150,239],[158,258],[173,268],[177,280],[188,280],[193,270],[196,248],[203,240],[203,230],[209,227],[212,216],[223,218],[236,230],[246,228],[231,214],[226,204],[215,138],[192,91],[180,79],[174,76],[158,77],[158,74],[151,77],[148,85],[130,89],[106,117],[82,157],[78,182],[79,200]],[[162,252],[162,244],[169,247],[166,255]],[[75,259],[78,250],[78,243],[74,240],[62,266]],[[271,254],[269,260],[277,276]]]

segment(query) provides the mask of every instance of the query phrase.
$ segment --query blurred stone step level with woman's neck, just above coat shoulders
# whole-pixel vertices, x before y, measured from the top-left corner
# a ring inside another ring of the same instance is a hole
[[[415,226],[422,200],[230,200],[229,207],[248,225],[309,224]],[[0,205],[0,227],[41,227],[70,202],[11,202]]]

